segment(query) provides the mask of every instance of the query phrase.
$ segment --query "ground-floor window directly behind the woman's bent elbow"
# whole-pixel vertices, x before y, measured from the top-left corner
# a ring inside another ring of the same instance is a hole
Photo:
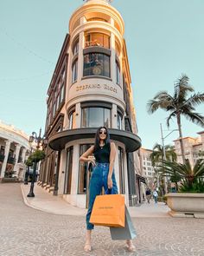
[[[91,144],[80,145],[80,155],[85,153]],[[78,193],[86,194],[86,187],[88,186],[90,180],[90,173],[88,172],[88,162],[80,162],[79,168],[79,184],[78,184]]]

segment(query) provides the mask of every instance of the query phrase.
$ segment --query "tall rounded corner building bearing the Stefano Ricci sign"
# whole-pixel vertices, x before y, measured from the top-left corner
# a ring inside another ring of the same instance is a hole
[[[75,10],[48,89],[46,159],[40,185],[76,207],[87,207],[90,174],[80,155],[99,126],[117,147],[115,174],[126,204],[138,201],[137,123],[124,41],[124,21],[110,1],[87,0]]]

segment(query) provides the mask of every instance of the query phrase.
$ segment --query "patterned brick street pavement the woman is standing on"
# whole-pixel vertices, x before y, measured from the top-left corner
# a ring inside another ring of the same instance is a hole
[[[204,220],[133,218],[137,253],[112,241],[107,227],[93,231],[92,253],[84,253],[85,217],[45,213],[27,207],[19,184],[0,184],[1,256],[204,255]]]

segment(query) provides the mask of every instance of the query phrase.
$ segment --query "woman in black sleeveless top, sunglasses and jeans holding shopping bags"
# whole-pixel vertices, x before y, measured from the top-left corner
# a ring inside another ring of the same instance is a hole
[[[92,251],[91,233],[94,226],[89,220],[96,196],[101,193],[102,187],[104,187],[105,191],[112,189],[112,194],[118,194],[118,187],[113,171],[115,156],[115,143],[110,142],[110,135],[108,129],[105,127],[100,127],[97,130],[94,146],[88,148],[80,156],[80,161],[90,161],[93,167],[89,185],[89,206],[86,214],[86,243],[84,247],[86,252]],[[135,252],[136,249],[131,240],[126,240],[126,248],[130,252]]]

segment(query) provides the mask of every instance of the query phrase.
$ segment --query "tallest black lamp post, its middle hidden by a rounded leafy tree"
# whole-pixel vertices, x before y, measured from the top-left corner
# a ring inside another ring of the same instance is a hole
[[[37,135],[35,132],[33,132],[32,135],[29,136],[29,141],[30,142],[36,141],[37,142],[36,149],[38,150],[40,148],[40,143],[42,141],[42,138],[41,138],[41,128],[40,128],[39,135]],[[31,184],[30,184],[29,194],[27,194],[28,197],[35,197],[35,194],[34,194],[34,184],[35,184],[36,167],[37,167],[37,160],[35,158],[34,170],[33,170],[33,175],[32,175],[32,181],[31,181]]]

